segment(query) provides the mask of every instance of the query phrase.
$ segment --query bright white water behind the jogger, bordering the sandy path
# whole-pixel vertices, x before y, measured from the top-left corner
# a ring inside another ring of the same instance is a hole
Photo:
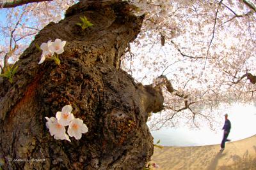
[[[231,130],[228,136],[232,141],[248,138],[256,134],[256,107],[250,104],[234,104],[227,108],[228,119],[231,122]],[[222,120],[225,122],[225,113]],[[163,146],[202,146],[220,144],[223,137],[223,130],[220,127],[216,132],[208,127],[200,127],[200,130],[193,130],[187,127],[162,128],[159,131],[152,131],[154,143],[159,139],[159,145]]]

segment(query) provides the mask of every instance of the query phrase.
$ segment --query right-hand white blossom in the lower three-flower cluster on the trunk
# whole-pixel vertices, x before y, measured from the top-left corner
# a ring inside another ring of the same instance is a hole
[[[82,133],[86,132],[88,132],[88,127],[83,124],[83,120],[80,118],[74,118],[68,125],[68,135],[70,137],[81,139]]]

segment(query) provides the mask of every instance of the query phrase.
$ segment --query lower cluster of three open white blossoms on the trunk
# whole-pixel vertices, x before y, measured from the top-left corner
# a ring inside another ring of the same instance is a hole
[[[70,141],[70,137],[75,137],[77,140],[81,139],[82,134],[88,132],[88,127],[83,124],[80,118],[74,118],[72,106],[66,105],[61,111],[56,113],[55,117],[45,117],[46,127],[49,129],[51,136],[54,139],[61,139]],[[65,126],[68,125],[68,135],[66,134]],[[71,141],[70,141],[71,142]]]

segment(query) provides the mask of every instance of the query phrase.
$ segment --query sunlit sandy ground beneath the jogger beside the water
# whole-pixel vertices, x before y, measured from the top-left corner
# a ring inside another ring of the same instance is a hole
[[[154,148],[152,162],[158,169],[256,170],[256,135],[220,145]]]

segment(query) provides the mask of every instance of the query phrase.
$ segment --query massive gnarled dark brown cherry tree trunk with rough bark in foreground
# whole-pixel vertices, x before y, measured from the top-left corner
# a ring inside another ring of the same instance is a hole
[[[160,90],[120,69],[143,17],[120,1],[81,1],[50,23],[20,56],[10,83],[0,78],[0,160],[3,169],[142,169],[153,154],[148,113],[163,108]],[[76,25],[85,16],[93,27]],[[36,48],[67,41],[60,66],[38,65]],[[66,104],[88,127],[82,138],[56,140],[45,126]]]

